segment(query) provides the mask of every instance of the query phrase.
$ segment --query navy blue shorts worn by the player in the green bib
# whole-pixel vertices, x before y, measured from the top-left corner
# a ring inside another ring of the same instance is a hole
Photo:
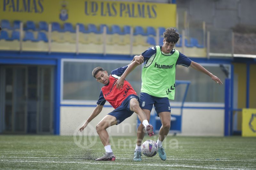
[[[168,97],[151,96],[148,93],[140,93],[140,107],[141,109],[152,110],[153,104],[155,106],[156,114],[167,111],[171,112],[171,106]]]

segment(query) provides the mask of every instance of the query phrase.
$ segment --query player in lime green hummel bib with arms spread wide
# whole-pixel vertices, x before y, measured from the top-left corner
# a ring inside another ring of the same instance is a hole
[[[154,46],[148,48],[142,55],[135,56],[134,60],[144,63],[142,68],[142,84],[140,93],[140,107],[145,112],[148,122],[153,104],[160,117],[162,126],[159,130],[157,140],[159,157],[166,160],[166,153],[162,147],[162,142],[167,136],[171,126],[171,107],[169,99],[174,99],[175,94],[175,71],[176,65],[192,67],[204,74],[209,75],[213,81],[222,84],[220,79],[207,71],[200,64],[191,61],[178,50],[173,49],[178,42],[180,36],[174,28],[167,28],[164,32],[162,46]],[[116,88],[123,87],[125,77],[139,64],[133,63],[125,70],[121,78],[116,82]],[[138,140],[134,152],[134,161],[141,161],[141,142],[144,137],[143,125],[138,127]]]

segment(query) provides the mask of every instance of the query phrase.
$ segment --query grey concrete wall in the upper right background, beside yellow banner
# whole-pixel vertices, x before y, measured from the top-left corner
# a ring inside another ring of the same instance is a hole
[[[237,24],[256,25],[255,0],[178,0],[177,11],[187,10],[188,20],[207,27],[230,29]]]

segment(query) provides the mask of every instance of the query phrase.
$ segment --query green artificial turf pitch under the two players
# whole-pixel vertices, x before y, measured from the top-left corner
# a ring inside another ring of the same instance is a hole
[[[163,142],[167,160],[157,154],[140,162],[132,160],[136,137],[110,137],[116,161],[94,160],[105,152],[99,137],[80,139],[0,135],[0,169],[256,169],[256,138],[169,135]]]

